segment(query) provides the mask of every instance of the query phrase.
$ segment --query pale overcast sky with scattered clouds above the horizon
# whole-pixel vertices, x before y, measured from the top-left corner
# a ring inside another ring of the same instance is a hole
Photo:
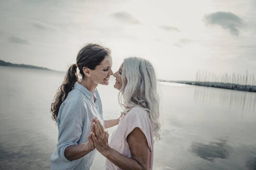
[[[159,79],[256,75],[255,0],[0,0],[0,60],[65,71],[88,43],[149,60]]]

